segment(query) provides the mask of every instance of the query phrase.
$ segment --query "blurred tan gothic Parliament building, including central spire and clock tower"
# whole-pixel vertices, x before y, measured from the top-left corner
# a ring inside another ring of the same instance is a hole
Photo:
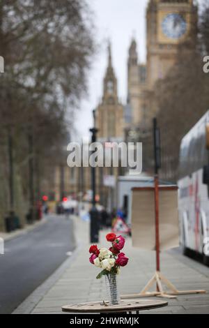
[[[140,5],[139,5],[140,6]],[[197,23],[197,7],[192,0],[150,0],[146,9],[146,63],[140,63],[137,40],[132,38],[127,58],[127,103],[118,98],[117,78],[111,60],[111,45],[107,52],[107,70],[103,80],[102,100],[95,111],[95,125],[100,142],[141,142],[150,131],[157,108],[152,101],[153,89],[163,79],[176,60],[178,44],[189,36]],[[145,155],[144,155],[145,156]],[[75,169],[75,170],[74,170]],[[91,168],[62,167],[56,170],[55,197],[59,200],[62,187],[65,194],[86,193],[91,189]],[[107,204],[109,187],[104,176],[125,174],[120,167],[98,167],[97,193]],[[146,167],[144,170],[148,171]]]

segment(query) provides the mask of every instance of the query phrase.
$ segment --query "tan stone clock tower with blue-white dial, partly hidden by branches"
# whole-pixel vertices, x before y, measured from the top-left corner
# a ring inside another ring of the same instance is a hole
[[[175,63],[177,45],[196,27],[197,8],[193,0],[150,0],[146,20],[147,82],[153,89]]]

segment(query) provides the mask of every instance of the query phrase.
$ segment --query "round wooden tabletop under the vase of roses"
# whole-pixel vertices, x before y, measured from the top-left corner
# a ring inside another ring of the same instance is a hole
[[[122,299],[120,304],[104,306],[102,302],[77,303],[62,306],[63,312],[70,313],[101,313],[101,312],[131,312],[150,310],[151,308],[161,308],[167,306],[167,301],[161,299]]]

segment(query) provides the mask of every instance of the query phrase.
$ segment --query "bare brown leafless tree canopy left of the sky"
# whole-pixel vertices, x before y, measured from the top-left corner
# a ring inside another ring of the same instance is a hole
[[[0,54],[5,61],[0,76],[3,212],[8,209],[11,160],[16,208],[21,197],[28,199],[28,165],[34,176],[40,167],[41,180],[47,163],[56,164],[70,128],[66,116],[72,117],[86,93],[94,50],[92,13],[85,0],[0,1]]]

